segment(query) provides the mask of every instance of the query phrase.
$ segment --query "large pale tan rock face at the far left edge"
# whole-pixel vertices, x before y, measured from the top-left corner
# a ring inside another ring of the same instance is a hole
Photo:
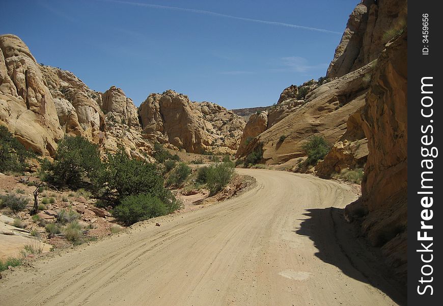
[[[0,124],[40,155],[53,156],[64,136],[39,65],[11,34],[0,36]]]

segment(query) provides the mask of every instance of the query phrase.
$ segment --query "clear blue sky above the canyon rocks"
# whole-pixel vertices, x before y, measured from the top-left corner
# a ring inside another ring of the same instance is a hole
[[[90,88],[140,105],[167,89],[228,109],[267,106],[317,79],[358,1],[2,1],[0,33]]]

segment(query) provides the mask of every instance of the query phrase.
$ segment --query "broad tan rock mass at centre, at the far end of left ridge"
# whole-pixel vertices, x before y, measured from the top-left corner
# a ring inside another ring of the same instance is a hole
[[[211,151],[233,154],[244,119],[209,102],[192,103],[173,90],[150,94],[139,108],[143,133],[164,137],[169,143],[192,153]]]

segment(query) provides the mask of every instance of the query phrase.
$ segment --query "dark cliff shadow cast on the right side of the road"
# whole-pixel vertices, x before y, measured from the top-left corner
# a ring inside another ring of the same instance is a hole
[[[369,244],[355,222],[347,223],[343,213],[343,209],[333,207],[309,209],[304,214],[308,218],[293,232],[309,237],[318,249],[315,255],[323,262],[406,305],[406,286],[385,263],[381,250]]]

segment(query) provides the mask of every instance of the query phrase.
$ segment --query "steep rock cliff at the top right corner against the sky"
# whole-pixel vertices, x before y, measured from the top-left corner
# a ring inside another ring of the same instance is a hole
[[[384,44],[406,25],[406,0],[363,0],[349,16],[328,78],[342,77],[377,59]]]

